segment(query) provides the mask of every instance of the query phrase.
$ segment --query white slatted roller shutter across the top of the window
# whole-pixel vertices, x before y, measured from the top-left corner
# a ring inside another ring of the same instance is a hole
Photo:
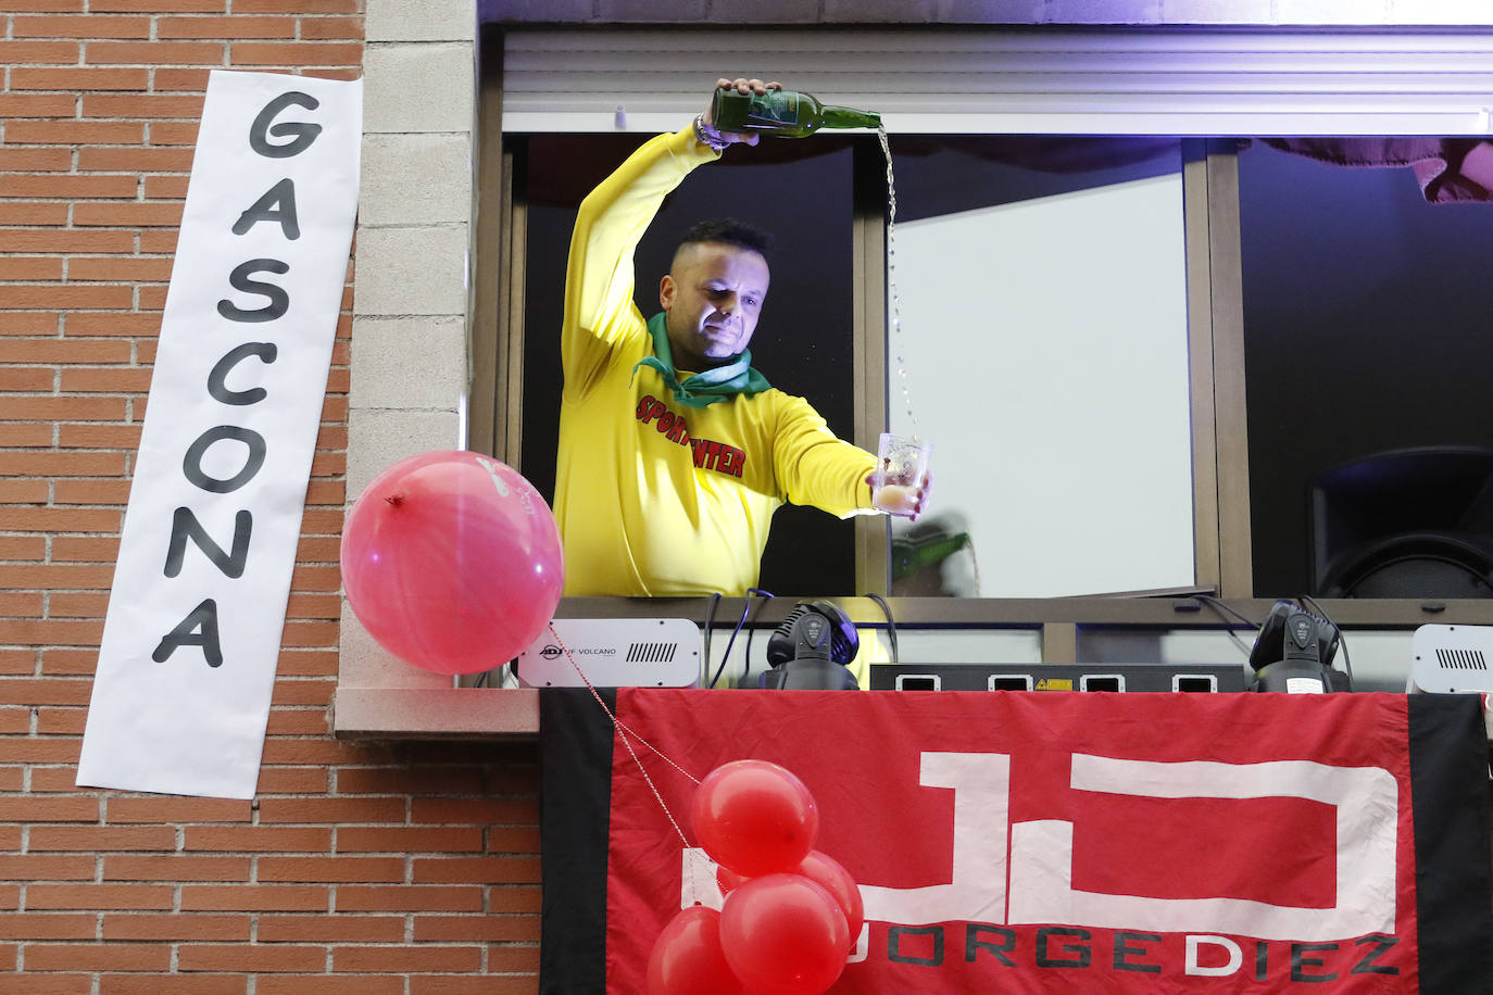
[[[673,130],[723,75],[903,134],[1484,134],[1493,31],[514,30],[503,130]]]

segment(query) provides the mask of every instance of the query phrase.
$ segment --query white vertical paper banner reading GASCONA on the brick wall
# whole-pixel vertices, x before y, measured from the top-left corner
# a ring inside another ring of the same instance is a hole
[[[361,130],[361,81],[208,82],[81,786],[254,797]]]

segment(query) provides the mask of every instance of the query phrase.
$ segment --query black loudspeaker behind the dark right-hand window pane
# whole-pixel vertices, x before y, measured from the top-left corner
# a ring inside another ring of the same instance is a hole
[[[1493,597],[1493,451],[1426,446],[1341,464],[1311,485],[1311,592]]]

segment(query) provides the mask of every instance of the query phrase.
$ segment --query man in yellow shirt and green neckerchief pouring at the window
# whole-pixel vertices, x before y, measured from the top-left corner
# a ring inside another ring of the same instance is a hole
[[[633,249],[664,195],[738,142],[757,136],[718,133],[706,112],[645,143],[581,204],[566,274],[554,509],[567,595],[741,597],[757,583],[784,501],[842,518],[923,510],[921,489],[872,494],[876,458],[751,367],[770,282],[760,233],[733,221],[697,225],[658,283],[661,310],[645,319],[635,306]]]

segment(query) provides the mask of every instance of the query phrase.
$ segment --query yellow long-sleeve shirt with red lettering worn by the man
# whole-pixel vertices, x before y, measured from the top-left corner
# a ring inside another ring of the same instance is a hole
[[[802,397],[673,403],[633,304],[633,251],[664,195],[718,158],[691,130],[638,149],[581,204],[566,276],[555,521],[567,595],[744,595],[772,513],[870,512],[876,458]],[[679,370],[679,379],[688,371]]]

